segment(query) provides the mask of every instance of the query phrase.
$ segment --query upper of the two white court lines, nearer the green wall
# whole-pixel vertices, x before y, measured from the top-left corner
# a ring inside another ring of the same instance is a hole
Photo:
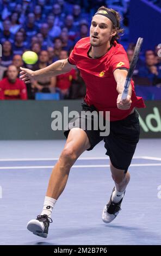
[[[49,158],[4,158],[0,159],[0,162],[9,162],[9,161],[54,161],[58,160],[59,157],[49,157]],[[79,157],[78,160],[106,160],[109,159],[109,156],[106,157]],[[159,157],[151,157],[151,156],[134,156],[133,159],[147,159],[147,160],[159,160],[161,161],[161,158]]]

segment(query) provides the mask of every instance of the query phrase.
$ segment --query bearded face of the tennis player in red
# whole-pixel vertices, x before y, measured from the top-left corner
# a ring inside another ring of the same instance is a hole
[[[94,47],[107,45],[115,33],[112,21],[103,15],[95,15],[90,27],[90,44]]]

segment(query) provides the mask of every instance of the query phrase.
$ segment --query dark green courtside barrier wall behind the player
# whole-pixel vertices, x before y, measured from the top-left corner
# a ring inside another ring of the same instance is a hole
[[[64,106],[81,109],[80,100],[0,101],[0,139],[64,139],[62,131],[52,131],[53,111],[63,113]],[[141,138],[161,138],[160,101],[146,101],[140,114]]]

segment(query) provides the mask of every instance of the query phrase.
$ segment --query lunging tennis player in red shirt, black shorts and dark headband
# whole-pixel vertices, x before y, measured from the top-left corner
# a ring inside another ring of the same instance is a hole
[[[115,182],[110,200],[104,206],[102,220],[106,223],[113,221],[121,210],[121,202],[130,179],[128,167],[139,141],[139,119],[135,107],[145,105],[143,99],[135,95],[133,81],[127,99],[121,101],[129,63],[125,50],[116,42],[119,33],[122,33],[119,13],[101,7],[92,18],[90,37],[77,42],[69,59],[58,60],[35,72],[27,69],[21,71],[22,80],[28,83],[32,77],[64,74],[77,66],[86,83],[85,102],[82,104],[84,112],[95,110],[106,114],[106,111],[110,111],[108,136],[102,137],[99,129],[81,129],[80,123],[88,120],[86,115],[77,119],[77,127],[64,132],[67,141],[53,168],[44,208],[41,215],[27,225],[28,230],[36,235],[47,237],[52,209],[65,188],[73,163],[83,151],[91,150],[102,139]],[[72,120],[71,124],[74,121],[76,120]],[[92,125],[96,122],[94,118],[91,121]]]

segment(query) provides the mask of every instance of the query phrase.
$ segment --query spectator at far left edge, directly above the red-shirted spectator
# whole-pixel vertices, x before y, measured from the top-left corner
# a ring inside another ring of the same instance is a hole
[[[13,50],[10,41],[4,41],[2,44],[1,65],[8,67],[13,61]]]

